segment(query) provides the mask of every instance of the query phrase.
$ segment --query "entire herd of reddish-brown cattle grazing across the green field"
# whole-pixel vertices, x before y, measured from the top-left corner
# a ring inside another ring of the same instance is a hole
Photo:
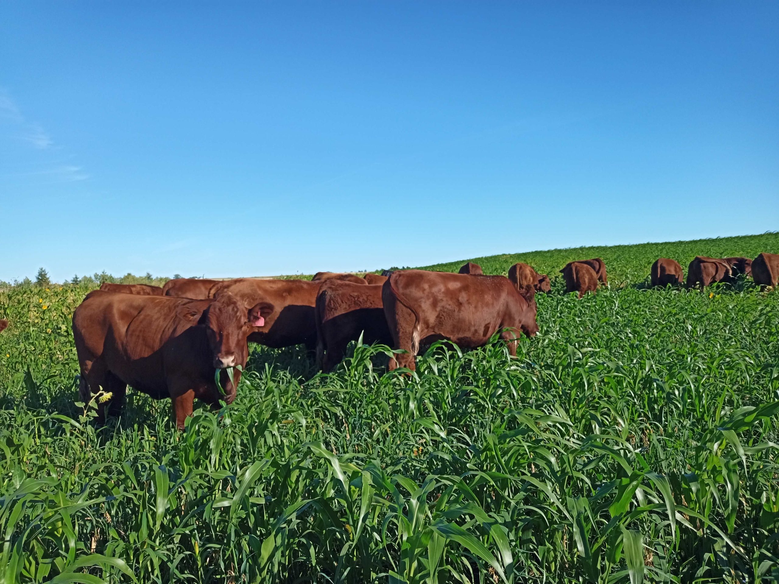
[[[607,284],[600,258],[569,262],[560,270],[566,293],[579,297]],[[688,287],[753,276],[776,286],[779,255],[756,259],[698,256],[689,264]],[[682,266],[654,262],[653,286],[682,284]],[[481,347],[499,333],[516,355],[520,334],[534,336],[535,294],[548,293],[548,276],[517,263],[506,276],[485,276],[468,262],[460,273],[396,270],[365,277],[317,273],[313,280],[169,280],[164,287],[103,283],[73,314],[81,372],[79,396],[100,395],[98,415],[121,411],[128,385],[154,399],[170,397],[178,427],[193,400],[232,403],[249,357],[249,341],[267,347],[303,344],[317,366],[330,371],[348,343],[383,343],[400,350],[389,367],[415,368],[414,357],[436,340]],[[0,330],[7,326],[0,320]],[[217,378],[219,383],[217,385]],[[102,390],[102,394],[100,391]]]

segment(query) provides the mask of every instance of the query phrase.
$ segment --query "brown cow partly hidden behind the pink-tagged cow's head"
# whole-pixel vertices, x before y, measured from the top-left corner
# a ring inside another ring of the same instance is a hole
[[[305,344],[316,348],[316,294],[322,282],[307,280],[260,280],[238,278],[219,283],[211,289],[213,297],[229,292],[250,308],[258,302],[268,302],[276,308],[266,316],[265,324],[254,329],[249,341],[266,347],[292,347]],[[363,286],[367,286],[363,280]]]

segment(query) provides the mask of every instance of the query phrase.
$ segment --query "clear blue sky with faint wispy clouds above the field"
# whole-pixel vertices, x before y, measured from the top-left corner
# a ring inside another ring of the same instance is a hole
[[[0,280],[779,228],[777,2],[3,2]]]

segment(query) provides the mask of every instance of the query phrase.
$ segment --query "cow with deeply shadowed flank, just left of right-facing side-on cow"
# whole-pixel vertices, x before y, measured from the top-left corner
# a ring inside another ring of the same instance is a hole
[[[343,358],[350,341],[392,344],[384,316],[382,287],[340,280],[322,284],[316,297],[316,363],[330,371]]]

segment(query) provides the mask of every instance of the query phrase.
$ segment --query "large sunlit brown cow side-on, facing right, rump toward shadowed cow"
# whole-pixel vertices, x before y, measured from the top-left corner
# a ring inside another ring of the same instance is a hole
[[[535,290],[517,291],[506,276],[425,272],[393,273],[382,287],[382,302],[393,348],[404,349],[390,359],[390,369],[416,368],[420,347],[449,339],[460,347],[481,347],[499,332],[516,355],[516,339],[538,332]]]

